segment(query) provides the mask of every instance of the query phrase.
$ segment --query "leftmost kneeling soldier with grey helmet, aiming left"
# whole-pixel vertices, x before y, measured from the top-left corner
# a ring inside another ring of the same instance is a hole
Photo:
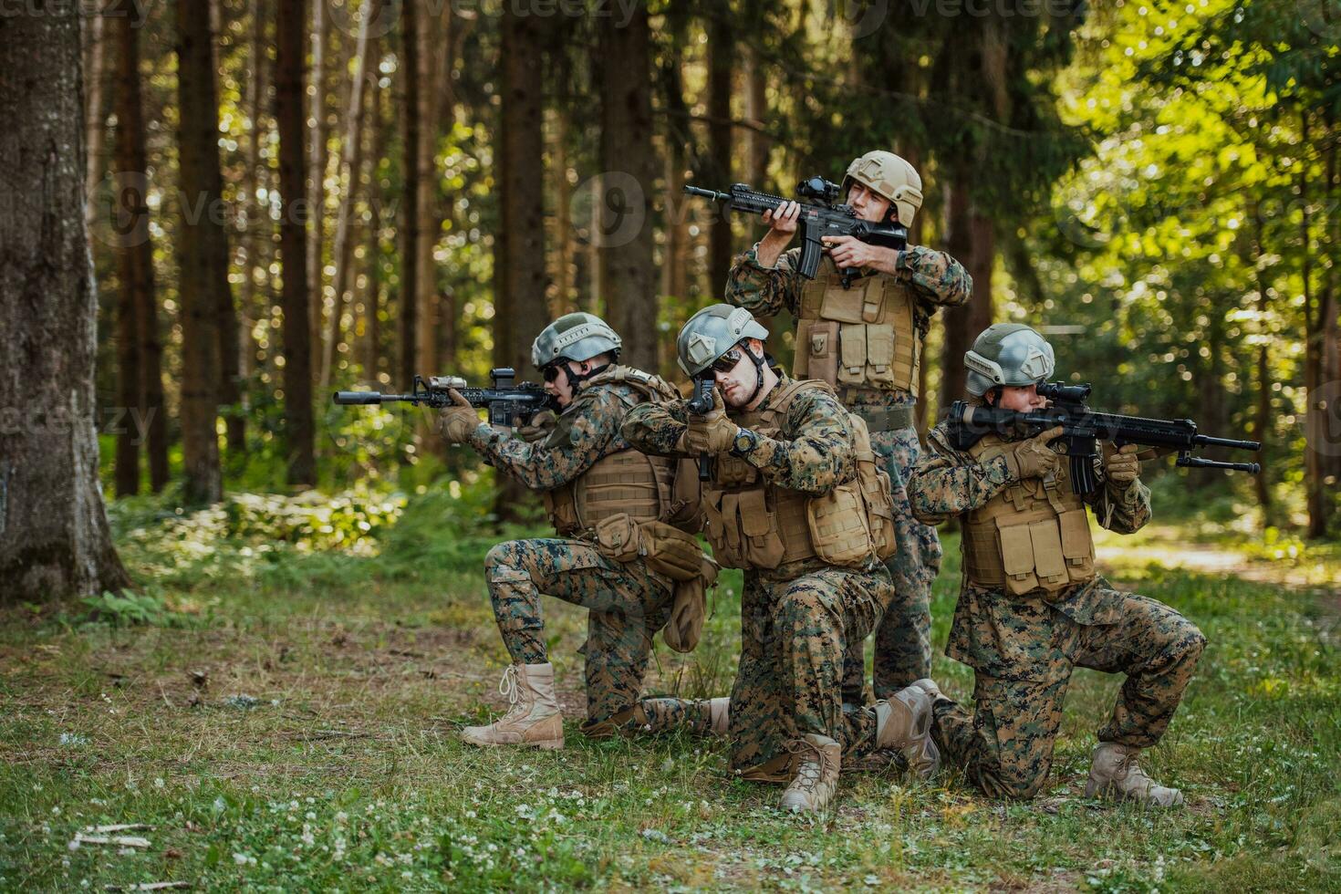
[[[590,611],[585,733],[677,724],[725,732],[725,698],[638,698],[652,637],[670,617],[676,580],[701,587],[705,559],[691,533],[666,524],[687,508],[673,503],[673,465],[629,449],[620,433],[632,407],[679,393],[654,375],[617,366],[618,357],[620,336],[591,314],[561,316],[540,332],[531,358],[562,413],[536,444],[481,422],[460,394],[440,414],[448,442],[469,445],[500,472],[543,492],[559,536],[500,543],[484,559],[493,615],[512,658],[500,688],[511,708],[487,726],[463,730],[472,745],[563,747],[542,592]],[[688,509],[697,527],[697,507]],[[640,555],[644,537],[656,537],[654,558]],[[701,602],[701,588],[697,596]]]

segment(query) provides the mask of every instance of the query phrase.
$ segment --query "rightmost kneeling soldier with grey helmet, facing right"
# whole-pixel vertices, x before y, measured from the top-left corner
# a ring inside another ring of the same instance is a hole
[[[1027,326],[988,327],[964,365],[978,405],[1019,413],[1046,405],[1037,386],[1053,374],[1053,347]],[[1181,792],[1156,784],[1137,759],[1168,728],[1206,638],[1168,606],[1094,574],[1085,507],[1118,533],[1151,517],[1137,446],[1106,453],[1096,462],[1100,485],[1081,495],[1050,446],[1061,433],[975,440],[941,422],[928,437],[932,456],[913,472],[917,517],[963,524],[964,580],[945,653],[975,672],[972,714],[933,682],[919,684],[936,698],[933,735],[984,793],[1033,797],[1047,780],[1071,667],[1125,673],[1085,795],[1181,804]]]

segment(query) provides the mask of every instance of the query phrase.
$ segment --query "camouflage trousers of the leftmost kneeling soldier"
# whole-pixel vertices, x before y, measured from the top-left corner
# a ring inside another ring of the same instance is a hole
[[[681,724],[707,730],[705,701],[638,698],[652,637],[670,617],[670,584],[642,560],[620,564],[582,540],[510,540],[484,559],[489,599],[512,661],[548,661],[540,594],[589,610],[586,655],[587,722],[597,733],[628,724],[658,732]]]

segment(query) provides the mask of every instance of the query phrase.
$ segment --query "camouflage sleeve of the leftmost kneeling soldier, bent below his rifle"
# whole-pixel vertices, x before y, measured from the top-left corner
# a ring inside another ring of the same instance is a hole
[[[484,460],[532,491],[554,491],[625,449],[620,424],[625,407],[609,387],[583,391],[539,444],[527,444],[481,424],[469,444]]]

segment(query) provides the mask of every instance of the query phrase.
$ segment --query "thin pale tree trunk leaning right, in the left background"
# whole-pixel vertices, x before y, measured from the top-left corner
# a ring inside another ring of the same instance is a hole
[[[318,394],[330,389],[335,370],[335,355],[339,353],[341,331],[345,316],[345,291],[350,288],[350,263],[353,260],[354,239],[351,236],[354,202],[359,194],[359,178],[363,170],[363,95],[367,92],[367,66],[371,59],[373,42],[369,40],[369,25],[377,15],[378,0],[363,0],[358,23],[358,44],[354,50],[354,75],[349,84],[349,113],[345,117],[346,130],[341,142],[341,197],[335,214],[335,303],[326,327],[326,343],[322,357],[320,385]],[[375,83],[375,78],[373,79]],[[350,302],[353,304],[353,302]]]

